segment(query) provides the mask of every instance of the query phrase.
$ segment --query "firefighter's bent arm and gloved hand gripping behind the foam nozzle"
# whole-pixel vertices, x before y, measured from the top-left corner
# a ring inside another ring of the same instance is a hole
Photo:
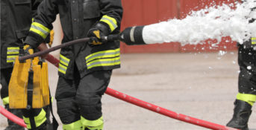
[[[90,45],[101,45],[104,42],[102,37],[108,36],[110,33],[119,33],[120,30],[121,0],[100,0],[99,7],[103,16],[88,32],[87,36],[92,37]]]

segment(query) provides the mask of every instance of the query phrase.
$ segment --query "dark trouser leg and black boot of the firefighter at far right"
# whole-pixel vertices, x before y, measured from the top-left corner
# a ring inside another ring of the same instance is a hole
[[[256,100],[256,51],[253,48],[239,46],[238,62],[240,74],[238,79],[239,94],[234,102],[234,114],[227,126],[248,130],[248,121],[252,113],[252,105]]]

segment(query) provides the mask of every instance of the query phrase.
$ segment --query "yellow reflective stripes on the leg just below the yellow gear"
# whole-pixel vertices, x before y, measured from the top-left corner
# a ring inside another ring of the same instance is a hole
[[[24,122],[27,125],[27,129],[31,129],[31,122],[29,120],[29,117],[24,117]],[[44,122],[46,122],[46,111],[41,108],[40,114],[38,114],[36,117],[34,117],[34,122],[36,123],[36,127],[41,126]]]

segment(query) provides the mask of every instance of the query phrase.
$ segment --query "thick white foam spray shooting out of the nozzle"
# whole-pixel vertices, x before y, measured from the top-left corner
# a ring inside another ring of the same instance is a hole
[[[234,9],[234,6],[235,9]],[[193,11],[185,19],[170,19],[143,29],[143,39],[147,44],[181,42],[181,45],[198,44],[207,39],[231,36],[233,41],[243,43],[251,36],[256,37],[256,2],[249,0],[243,4],[222,4]]]

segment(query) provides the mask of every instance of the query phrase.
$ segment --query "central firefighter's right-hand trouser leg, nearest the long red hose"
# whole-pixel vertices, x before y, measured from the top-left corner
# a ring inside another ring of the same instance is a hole
[[[86,129],[102,130],[102,95],[107,90],[112,71],[93,71],[81,78],[75,97]]]

